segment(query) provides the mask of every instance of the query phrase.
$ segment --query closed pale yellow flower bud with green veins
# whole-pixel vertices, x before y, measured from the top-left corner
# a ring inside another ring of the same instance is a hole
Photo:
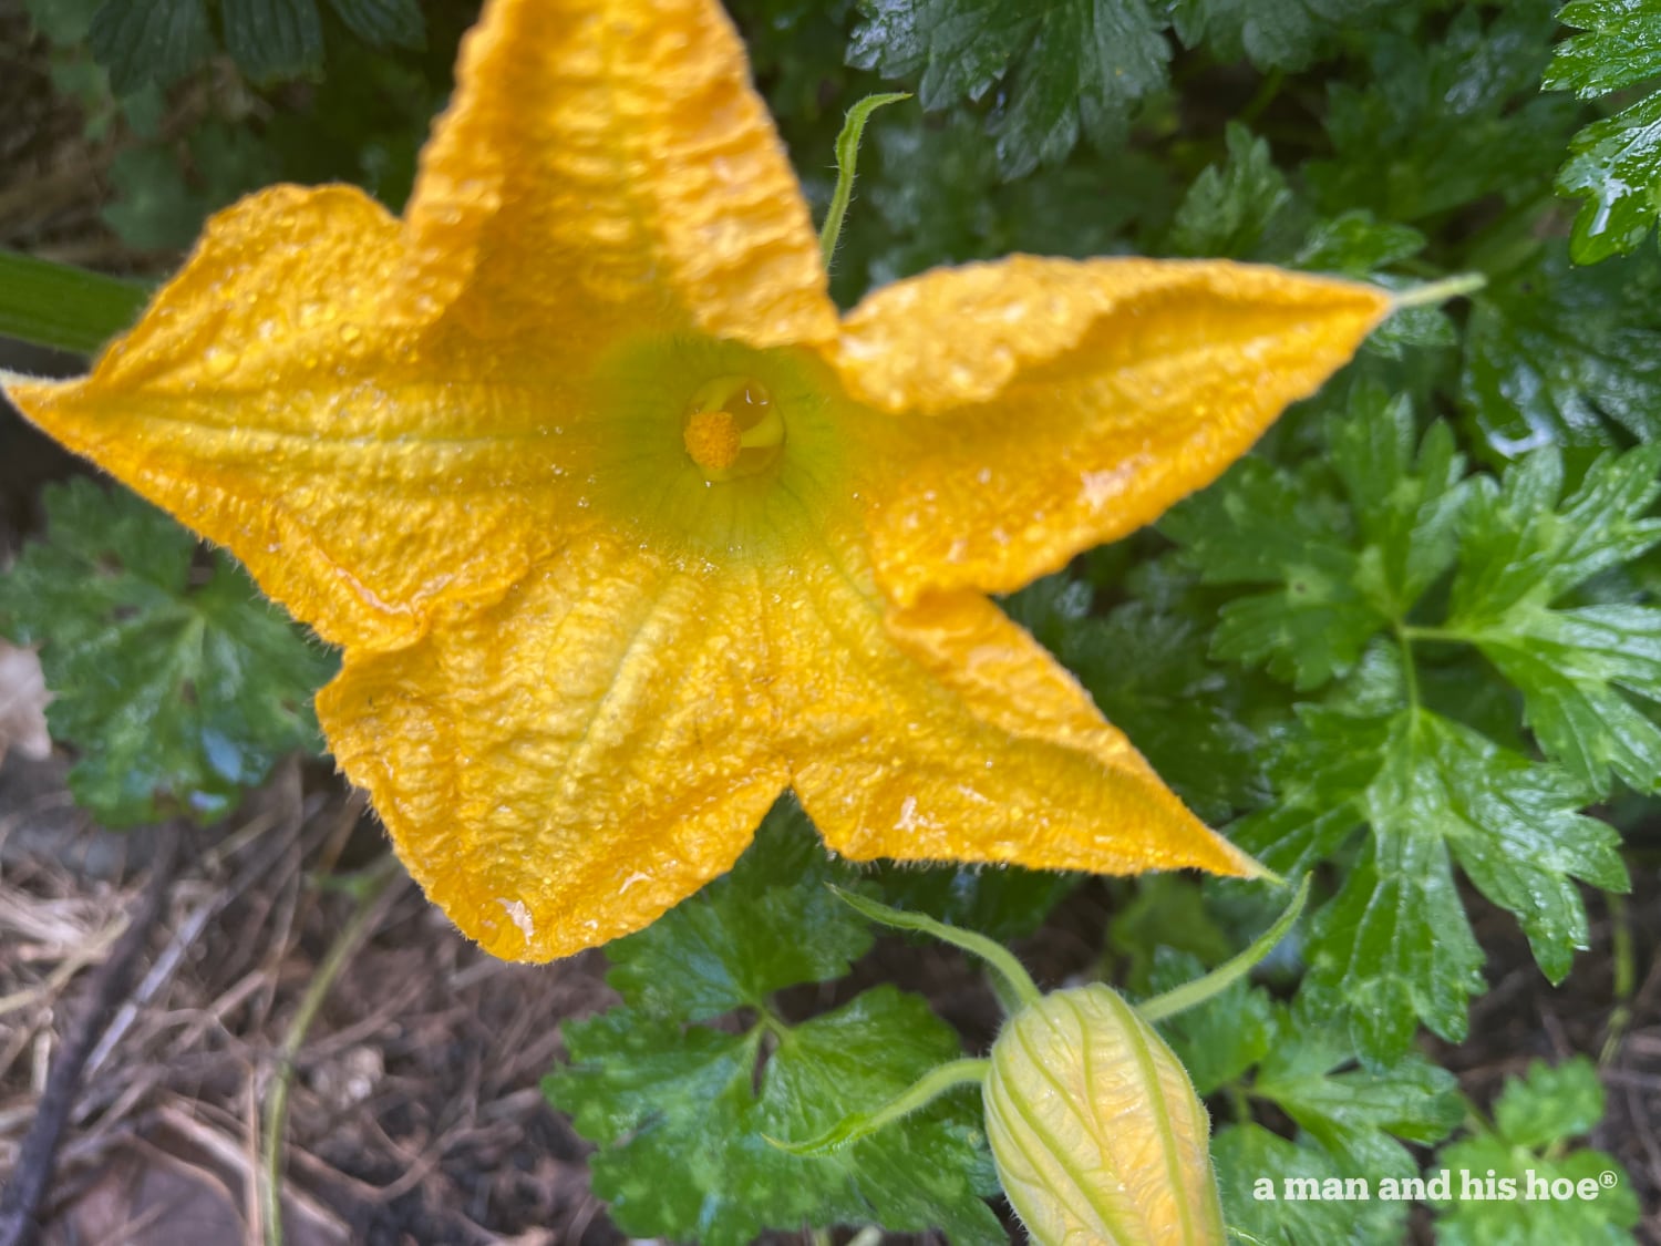
[[[1211,1120],[1154,1028],[1100,984],[1015,1013],[992,1047],[987,1136],[1038,1246],[1222,1243]]]

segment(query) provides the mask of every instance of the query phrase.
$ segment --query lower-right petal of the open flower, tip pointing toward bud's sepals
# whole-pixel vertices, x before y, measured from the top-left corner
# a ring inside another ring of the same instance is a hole
[[[839,558],[802,568],[792,786],[855,861],[1257,874],[1158,779],[1078,683],[977,593],[884,618]]]

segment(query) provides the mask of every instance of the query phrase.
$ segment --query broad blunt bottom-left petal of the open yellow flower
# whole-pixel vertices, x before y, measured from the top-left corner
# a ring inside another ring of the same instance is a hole
[[[728,871],[784,789],[759,601],[754,576],[590,535],[490,610],[347,653],[317,713],[463,932],[570,955]]]

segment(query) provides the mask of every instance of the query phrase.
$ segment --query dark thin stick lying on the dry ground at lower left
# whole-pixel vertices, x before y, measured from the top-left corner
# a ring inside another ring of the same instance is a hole
[[[47,1088],[35,1105],[35,1121],[23,1136],[17,1166],[12,1170],[12,1183],[0,1191],[0,1246],[28,1246],[40,1231],[35,1216],[51,1181],[58,1140],[68,1123],[70,1108],[75,1106],[81,1070],[86,1067],[93,1043],[98,1042],[98,1035],[103,1033],[116,1005],[126,995],[128,982],[138,967],[138,955],[145,950],[145,939],[161,914],[161,902],[173,881],[173,859],[178,847],[179,827],[176,822],[168,822],[156,839],[149,881],[145,884],[138,904],[133,905],[133,919],[126,924],[126,930],[121,932],[108,960],[93,970],[86,990],[86,1010],[78,1022],[71,1023],[63,1047],[58,1050],[58,1058],[51,1062]]]

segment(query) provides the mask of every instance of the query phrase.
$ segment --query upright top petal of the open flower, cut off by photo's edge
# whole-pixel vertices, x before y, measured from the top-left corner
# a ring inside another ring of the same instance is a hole
[[[412,297],[580,357],[835,334],[819,241],[716,0],[495,0],[409,208]]]

